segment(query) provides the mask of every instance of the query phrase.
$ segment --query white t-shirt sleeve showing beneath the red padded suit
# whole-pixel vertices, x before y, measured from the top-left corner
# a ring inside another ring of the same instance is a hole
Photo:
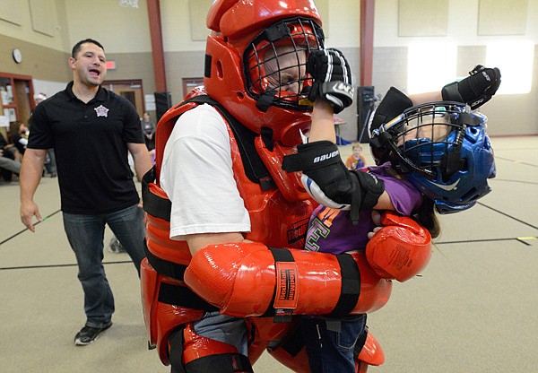
[[[233,176],[230,134],[211,105],[199,105],[178,118],[164,148],[161,187],[172,203],[170,239],[250,231]]]

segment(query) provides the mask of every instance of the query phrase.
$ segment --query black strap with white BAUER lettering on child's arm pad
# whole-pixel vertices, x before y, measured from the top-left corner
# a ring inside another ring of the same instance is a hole
[[[330,141],[300,143],[297,154],[284,156],[282,169],[286,172],[320,169],[341,162],[338,146]]]

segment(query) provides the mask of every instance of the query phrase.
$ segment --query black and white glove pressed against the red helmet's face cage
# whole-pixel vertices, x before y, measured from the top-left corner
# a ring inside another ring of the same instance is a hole
[[[342,52],[334,49],[315,50],[308,56],[307,73],[314,80],[308,100],[326,100],[338,114],[353,102],[351,68]]]

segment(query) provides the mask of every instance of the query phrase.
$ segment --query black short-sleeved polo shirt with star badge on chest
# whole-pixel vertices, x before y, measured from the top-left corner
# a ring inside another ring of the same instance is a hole
[[[111,213],[137,204],[127,143],[144,143],[133,105],[100,87],[83,103],[65,91],[34,109],[28,148],[54,148],[62,211]]]

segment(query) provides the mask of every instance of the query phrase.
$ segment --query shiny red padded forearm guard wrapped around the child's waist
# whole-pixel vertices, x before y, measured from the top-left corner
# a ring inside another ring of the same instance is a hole
[[[200,297],[230,316],[262,316],[272,307],[295,315],[329,314],[340,298],[343,283],[336,256],[289,251],[294,261],[275,265],[272,252],[261,243],[204,247],[193,256],[184,280]],[[352,257],[360,271],[360,297],[351,313],[373,312],[386,304],[392,283],[374,273],[363,254]]]

